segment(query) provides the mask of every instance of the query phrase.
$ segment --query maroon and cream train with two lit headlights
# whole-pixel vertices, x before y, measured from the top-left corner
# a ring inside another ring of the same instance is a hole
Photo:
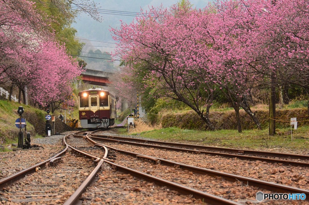
[[[83,128],[107,128],[115,123],[116,97],[108,90],[92,88],[78,92],[78,113]]]

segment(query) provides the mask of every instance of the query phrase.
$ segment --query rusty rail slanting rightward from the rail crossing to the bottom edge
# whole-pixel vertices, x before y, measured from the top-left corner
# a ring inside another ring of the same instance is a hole
[[[112,165],[113,167],[116,167],[121,172],[129,173],[130,175],[136,176],[140,179],[145,179],[147,181],[154,182],[157,185],[170,187],[171,189],[174,189],[184,195],[193,195],[196,199],[205,200],[206,203],[215,204],[215,205],[217,204],[240,204],[240,203],[228,200],[228,199],[224,199],[222,197],[218,197],[218,196],[211,195],[203,191],[199,191],[199,190],[196,190],[190,187],[183,186],[175,182],[167,181],[159,177],[148,175],[144,172],[133,170],[129,167],[124,167],[119,164],[110,162],[108,160],[104,160],[104,162]]]

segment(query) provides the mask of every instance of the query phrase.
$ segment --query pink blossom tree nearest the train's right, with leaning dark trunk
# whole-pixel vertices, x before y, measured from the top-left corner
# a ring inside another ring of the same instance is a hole
[[[112,29],[114,39],[119,42],[116,55],[125,62],[146,64],[150,71],[145,75],[145,86],[158,88],[156,94],[166,96],[191,107],[208,125],[215,127],[209,120],[212,105],[212,89],[205,89],[204,78],[197,74],[198,65],[190,62],[187,48],[195,46],[190,38],[192,31],[186,24],[193,23],[197,10],[175,6],[171,10],[162,7],[151,8],[136,22],[121,29]],[[209,85],[211,87],[211,85]],[[202,107],[206,106],[206,113]]]

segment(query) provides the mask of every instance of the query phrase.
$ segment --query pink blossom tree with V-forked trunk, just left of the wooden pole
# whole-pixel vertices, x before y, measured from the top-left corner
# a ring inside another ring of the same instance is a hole
[[[198,62],[204,65],[201,74],[208,73],[211,81],[231,102],[239,132],[242,130],[240,107],[261,129],[248,103],[250,90],[258,75],[252,74],[249,66],[256,60],[256,44],[252,42],[255,33],[252,32],[252,18],[248,15],[247,5],[241,1],[222,1],[206,11],[207,14],[199,18],[194,32],[197,42],[204,45],[197,52]]]

